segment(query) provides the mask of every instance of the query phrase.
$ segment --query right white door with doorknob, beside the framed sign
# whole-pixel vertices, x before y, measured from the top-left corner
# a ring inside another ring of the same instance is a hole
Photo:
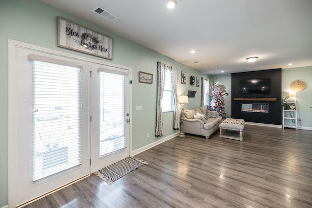
[[[92,63],[91,173],[130,155],[130,70]]]

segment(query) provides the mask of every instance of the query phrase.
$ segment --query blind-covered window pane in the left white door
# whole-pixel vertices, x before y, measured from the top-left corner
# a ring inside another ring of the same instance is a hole
[[[80,68],[32,60],[33,181],[81,164]]]

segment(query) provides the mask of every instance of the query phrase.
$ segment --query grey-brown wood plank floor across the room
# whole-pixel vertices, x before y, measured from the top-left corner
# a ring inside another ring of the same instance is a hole
[[[246,125],[243,141],[187,135],[135,156],[107,185],[91,175],[27,208],[311,208],[312,131]]]

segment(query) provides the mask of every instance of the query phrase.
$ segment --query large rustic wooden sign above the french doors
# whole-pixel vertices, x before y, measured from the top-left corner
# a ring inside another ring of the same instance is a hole
[[[61,17],[58,46],[113,60],[113,38]]]

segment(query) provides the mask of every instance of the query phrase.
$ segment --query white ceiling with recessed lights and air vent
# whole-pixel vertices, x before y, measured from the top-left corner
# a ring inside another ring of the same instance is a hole
[[[207,74],[312,66],[312,0],[41,1]]]

